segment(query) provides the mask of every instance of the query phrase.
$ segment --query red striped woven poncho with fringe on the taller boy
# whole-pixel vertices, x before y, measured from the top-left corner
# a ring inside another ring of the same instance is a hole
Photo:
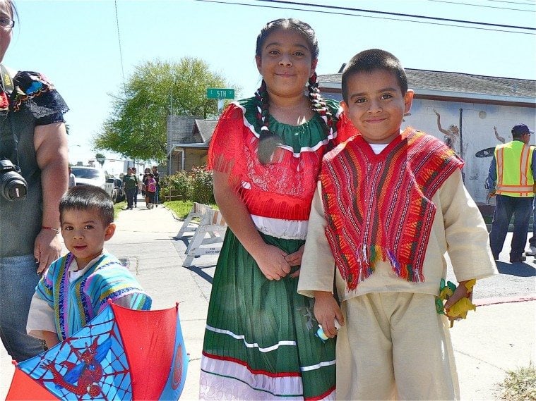
[[[380,154],[361,135],[326,154],[319,179],[326,237],[348,290],[389,261],[422,282],[436,190],[463,161],[440,140],[406,128]]]

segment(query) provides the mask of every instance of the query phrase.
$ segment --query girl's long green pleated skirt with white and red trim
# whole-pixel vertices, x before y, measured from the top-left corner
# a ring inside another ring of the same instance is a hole
[[[261,235],[288,253],[304,244]],[[315,335],[314,301],[297,283],[268,280],[227,230],[208,307],[201,400],[335,399],[335,340]]]

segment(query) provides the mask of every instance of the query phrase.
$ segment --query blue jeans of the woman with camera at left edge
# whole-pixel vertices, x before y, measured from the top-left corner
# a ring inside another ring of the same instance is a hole
[[[40,276],[33,255],[0,258],[0,336],[17,362],[43,352],[43,342],[26,334],[30,302]]]

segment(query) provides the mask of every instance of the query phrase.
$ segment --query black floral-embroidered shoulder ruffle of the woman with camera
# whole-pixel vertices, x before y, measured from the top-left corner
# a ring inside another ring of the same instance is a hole
[[[19,71],[13,78],[13,87],[11,95],[0,93],[0,121],[7,117],[8,111],[18,112],[23,108],[36,118],[36,125],[64,121],[63,114],[69,107],[44,75]]]

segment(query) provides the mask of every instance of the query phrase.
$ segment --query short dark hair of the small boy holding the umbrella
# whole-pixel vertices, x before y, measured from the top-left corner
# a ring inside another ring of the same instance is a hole
[[[76,185],[59,200],[59,219],[63,223],[66,210],[92,210],[107,226],[114,221],[114,202],[105,190],[95,185]]]

